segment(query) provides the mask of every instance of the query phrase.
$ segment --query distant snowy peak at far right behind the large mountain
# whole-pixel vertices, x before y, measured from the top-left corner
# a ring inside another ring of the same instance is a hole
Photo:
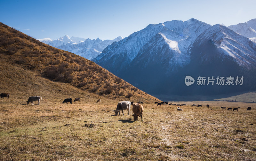
[[[251,19],[250,21],[239,23],[237,25],[231,25],[228,28],[245,37],[256,37],[256,19]]]

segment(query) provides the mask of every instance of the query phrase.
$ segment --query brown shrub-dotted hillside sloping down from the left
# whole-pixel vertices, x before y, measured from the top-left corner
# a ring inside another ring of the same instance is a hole
[[[1,93],[48,96],[49,92],[65,94],[68,92],[63,92],[65,88],[72,88],[74,95],[84,93],[95,98],[147,103],[159,101],[90,60],[44,44],[3,23],[0,23],[0,56]],[[56,82],[60,82],[59,86]]]

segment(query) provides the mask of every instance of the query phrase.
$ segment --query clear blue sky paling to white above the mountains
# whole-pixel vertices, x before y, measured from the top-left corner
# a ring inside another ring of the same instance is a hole
[[[171,20],[229,26],[256,18],[255,0],[0,0],[0,6],[0,22],[36,39],[112,40]]]

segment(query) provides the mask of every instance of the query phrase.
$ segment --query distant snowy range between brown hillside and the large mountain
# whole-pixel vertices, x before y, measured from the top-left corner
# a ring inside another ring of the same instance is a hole
[[[91,40],[73,36],[69,38],[69,36],[66,35],[57,40],[52,40],[50,38],[38,40],[58,49],[66,50],[91,60],[92,58],[97,57],[105,47],[122,39],[122,36],[118,36],[114,40],[102,41],[99,38]]]

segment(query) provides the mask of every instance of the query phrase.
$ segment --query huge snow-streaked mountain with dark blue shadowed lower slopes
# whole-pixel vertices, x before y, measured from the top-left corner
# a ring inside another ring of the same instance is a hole
[[[92,61],[150,94],[188,94],[186,74],[229,76],[255,69],[256,43],[223,25],[173,20],[112,43]]]

